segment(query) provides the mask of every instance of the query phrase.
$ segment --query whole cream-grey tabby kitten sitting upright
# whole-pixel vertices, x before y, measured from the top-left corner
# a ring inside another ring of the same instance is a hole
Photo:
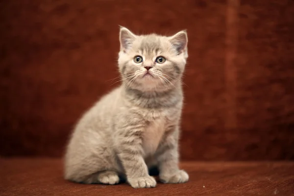
[[[160,181],[188,181],[178,168],[187,42],[186,31],[166,37],[121,27],[122,85],[77,123],[65,156],[66,179],[117,184],[123,175],[133,188],[149,188],[156,181],[148,168],[156,165]]]

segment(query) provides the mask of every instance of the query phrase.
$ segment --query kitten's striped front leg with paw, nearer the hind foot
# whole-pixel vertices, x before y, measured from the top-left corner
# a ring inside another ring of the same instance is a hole
[[[148,174],[147,165],[142,156],[142,125],[134,123],[125,130],[119,130],[117,152],[122,161],[128,183],[133,188],[150,188],[156,186],[155,179]]]

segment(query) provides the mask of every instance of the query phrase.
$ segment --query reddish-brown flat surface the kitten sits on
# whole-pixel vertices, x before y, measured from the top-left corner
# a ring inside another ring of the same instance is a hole
[[[185,184],[158,183],[152,189],[127,184],[84,185],[62,178],[58,159],[0,159],[1,196],[249,196],[294,193],[294,162],[184,162]]]

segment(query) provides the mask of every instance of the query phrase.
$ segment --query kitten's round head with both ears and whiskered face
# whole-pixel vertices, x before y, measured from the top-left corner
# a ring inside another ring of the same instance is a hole
[[[135,35],[120,30],[119,70],[127,88],[164,91],[181,82],[187,53],[187,33],[173,36]]]

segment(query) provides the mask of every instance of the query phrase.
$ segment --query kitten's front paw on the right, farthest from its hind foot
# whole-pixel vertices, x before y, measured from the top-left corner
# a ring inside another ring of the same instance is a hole
[[[163,183],[184,183],[189,180],[189,175],[184,170],[179,170],[172,174],[159,175],[159,179]]]

